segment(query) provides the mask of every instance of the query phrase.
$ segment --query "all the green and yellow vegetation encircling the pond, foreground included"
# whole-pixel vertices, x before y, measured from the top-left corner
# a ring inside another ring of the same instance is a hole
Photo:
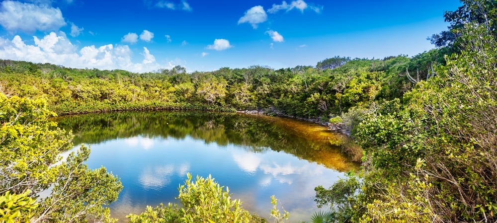
[[[497,3],[462,3],[445,13],[449,30],[429,38],[437,48],[413,57],[144,74],[0,60],[0,222],[112,222],[102,205],[120,182],[86,168],[87,148],[59,163],[73,136],[49,118],[125,110],[257,110],[340,127],[361,146],[349,155],[362,169],[316,187],[330,211],[315,222],[496,222]],[[210,177],[189,176],[179,198],[131,222],[265,221]]]

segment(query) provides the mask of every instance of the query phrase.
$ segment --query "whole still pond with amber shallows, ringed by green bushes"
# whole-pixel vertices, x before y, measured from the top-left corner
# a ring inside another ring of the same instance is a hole
[[[358,165],[344,157],[325,127],[297,120],[206,112],[120,112],[61,117],[74,145],[89,145],[89,168],[105,166],[124,186],[110,205],[127,222],[147,205],[176,202],[186,173],[229,188],[243,207],[267,218],[275,195],[290,221],[318,210],[314,187],[331,186]]]

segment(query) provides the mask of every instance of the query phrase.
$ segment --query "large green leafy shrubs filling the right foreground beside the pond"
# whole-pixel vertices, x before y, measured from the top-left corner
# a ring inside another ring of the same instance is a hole
[[[437,76],[359,125],[371,166],[356,220],[496,221],[497,44],[483,25],[463,31]]]

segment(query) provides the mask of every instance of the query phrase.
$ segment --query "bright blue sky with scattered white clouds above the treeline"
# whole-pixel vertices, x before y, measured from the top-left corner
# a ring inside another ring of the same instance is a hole
[[[188,72],[414,56],[459,0],[3,0],[0,58]]]

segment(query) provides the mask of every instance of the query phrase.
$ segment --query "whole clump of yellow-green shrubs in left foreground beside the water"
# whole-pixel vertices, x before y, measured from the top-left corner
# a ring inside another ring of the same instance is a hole
[[[103,167],[87,169],[83,161],[89,149],[85,147],[61,159],[60,154],[72,148],[72,135],[48,120],[55,113],[46,107],[42,99],[0,95],[0,194],[24,193],[26,202],[42,191],[49,194],[39,198],[35,209],[27,210],[31,223],[85,222],[87,218],[112,222],[102,205],[117,199],[120,182]]]

